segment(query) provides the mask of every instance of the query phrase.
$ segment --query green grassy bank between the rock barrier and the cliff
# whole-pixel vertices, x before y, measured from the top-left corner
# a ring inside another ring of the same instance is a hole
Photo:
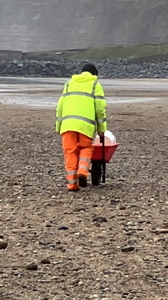
[[[56,54],[56,52],[62,52]],[[168,54],[168,43],[144,45],[109,45],[105,47],[88,48],[84,50],[62,50],[49,52],[24,53],[24,58],[51,59],[54,58],[80,58],[80,59],[105,59],[105,58],[141,58],[146,56]]]

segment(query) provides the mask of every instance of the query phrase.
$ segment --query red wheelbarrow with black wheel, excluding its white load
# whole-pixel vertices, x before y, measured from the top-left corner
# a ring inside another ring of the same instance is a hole
[[[106,163],[109,163],[115,150],[119,144],[105,146],[105,138],[100,137],[100,143],[102,145],[93,145],[94,150],[91,158],[91,183],[93,185],[99,185],[101,182],[106,182]]]

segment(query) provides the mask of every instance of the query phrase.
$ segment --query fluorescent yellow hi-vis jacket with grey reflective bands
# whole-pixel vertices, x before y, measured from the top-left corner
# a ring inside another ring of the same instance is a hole
[[[56,131],[77,131],[93,138],[96,125],[98,132],[107,129],[106,101],[97,76],[90,72],[73,75],[59,98],[56,109]]]

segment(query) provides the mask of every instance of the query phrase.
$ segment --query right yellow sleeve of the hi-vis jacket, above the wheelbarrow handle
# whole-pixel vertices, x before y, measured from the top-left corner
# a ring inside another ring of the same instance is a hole
[[[97,131],[105,132],[107,130],[106,122],[106,100],[104,98],[104,90],[100,82],[97,82],[95,87],[95,114],[97,122]]]

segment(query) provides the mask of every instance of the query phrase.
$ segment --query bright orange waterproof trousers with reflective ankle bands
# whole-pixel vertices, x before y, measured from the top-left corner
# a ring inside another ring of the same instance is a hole
[[[78,189],[78,175],[88,176],[93,152],[92,139],[76,131],[62,134],[68,189]]]

